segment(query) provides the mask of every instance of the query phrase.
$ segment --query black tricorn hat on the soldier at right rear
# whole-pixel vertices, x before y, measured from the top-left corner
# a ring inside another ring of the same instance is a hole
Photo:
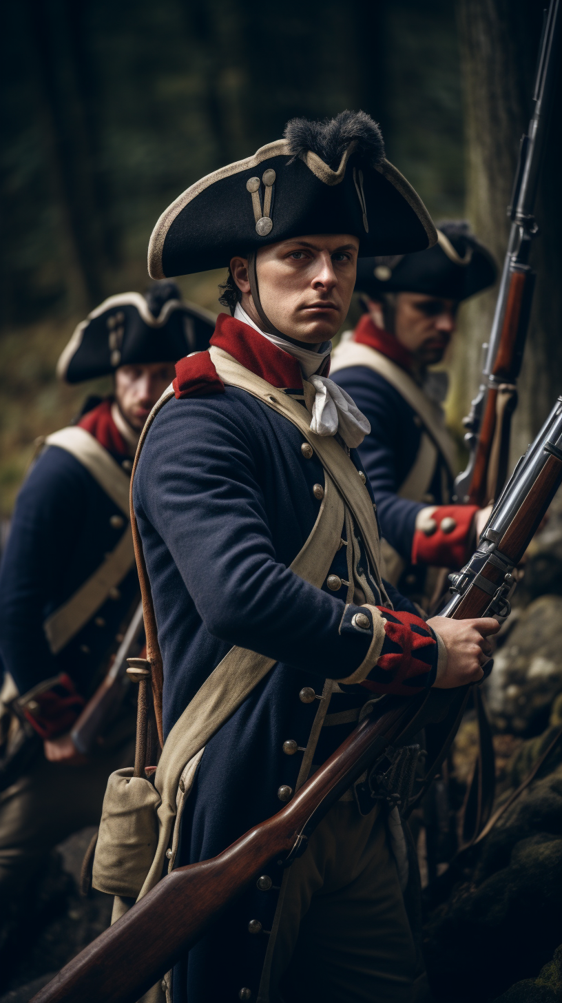
[[[498,268],[464,221],[438,224],[438,243],[417,254],[363,258],[355,289],[377,299],[382,293],[426,293],[466,300],[494,285]]]

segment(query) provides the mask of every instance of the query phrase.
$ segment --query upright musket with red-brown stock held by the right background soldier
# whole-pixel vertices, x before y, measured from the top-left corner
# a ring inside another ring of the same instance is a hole
[[[505,483],[509,459],[511,418],[517,404],[521,370],[536,273],[529,265],[533,238],[538,233],[535,202],[543,159],[549,113],[559,60],[560,0],[550,0],[545,12],[535,88],[534,110],[521,139],[519,162],[508,209],[511,230],[502,281],[486,350],[478,395],[463,421],[470,451],[466,470],[455,481],[454,500],[486,506]]]

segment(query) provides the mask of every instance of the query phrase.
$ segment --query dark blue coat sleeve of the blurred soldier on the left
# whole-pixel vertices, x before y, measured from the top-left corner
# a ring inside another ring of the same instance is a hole
[[[0,565],[0,653],[20,693],[60,671],[43,623],[56,608],[83,519],[84,477],[56,447],[39,457],[21,488]]]

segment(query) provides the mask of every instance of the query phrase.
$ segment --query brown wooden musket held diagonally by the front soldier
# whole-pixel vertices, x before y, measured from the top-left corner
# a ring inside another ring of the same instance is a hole
[[[562,397],[518,463],[478,550],[459,573],[442,616],[509,613],[513,569],[560,483]],[[288,867],[305,852],[311,832],[331,805],[379,761],[388,746],[405,745],[423,727],[443,722],[449,733],[409,807],[417,803],[451,745],[470,690],[470,686],[434,688],[410,698],[388,696],[376,701],[371,713],[284,808],[218,857],[172,871],[69,962],[32,1003],[134,1003],[252,882],[267,873],[271,861]]]

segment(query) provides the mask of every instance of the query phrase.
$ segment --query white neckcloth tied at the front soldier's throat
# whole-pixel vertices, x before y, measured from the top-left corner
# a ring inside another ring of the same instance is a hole
[[[236,305],[234,316],[243,324],[253,327],[263,338],[267,338],[277,348],[292,355],[299,362],[303,377],[312,383],[316,390],[312,405],[311,430],[317,435],[335,435],[339,432],[345,444],[351,449],[360,445],[370,431],[370,425],[364,414],[355,406],[349,394],[333,380],[315,375],[316,370],[331,352],[331,341],[325,341],[318,351],[312,351],[304,346],[293,345],[291,341],[285,341],[275,334],[266,334],[251,320],[240,303]]]

